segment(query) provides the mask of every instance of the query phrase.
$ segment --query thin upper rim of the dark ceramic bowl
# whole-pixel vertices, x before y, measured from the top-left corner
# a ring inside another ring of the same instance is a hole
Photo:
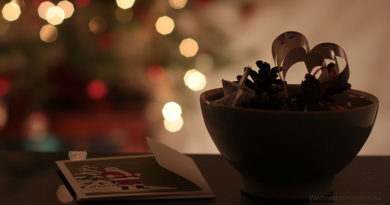
[[[207,96],[210,96],[211,94],[214,93],[220,93],[223,92],[223,88],[214,88],[214,89],[209,89],[200,94],[200,102],[207,104],[208,106],[211,107],[219,107],[219,108],[224,108],[224,109],[229,109],[229,110],[241,110],[241,111],[250,111],[250,112],[258,112],[258,113],[278,113],[278,114],[305,114],[305,115],[329,115],[329,114],[335,114],[335,113],[346,113],[346,112],[352,112],[352,111],[358,111],[358,110],[364,110],[364,109],[369,109],[370,107],[373,106],[378,106],[379,107],[379,100],[378,98],[368,92],[364,92],[361,90],[355,90],[355,89],[349,89],[346,92],[351,92],[353,94],[359,94],[367,97],[370,101],[372,101],[368,105],[360,106],[360,107],[355,107],[355,108],[350,108],[347,110],[332,110],[332,111],[308,111],[308,112],[303,112],[303,111],[293,111],[293,110],[267,110],[267,109],[257,109],[257,108],[246,108],[246,107],[232,107],[228,105],[221,105],[221,104],[216,104],[212,103],[212,101],[207,99]]]

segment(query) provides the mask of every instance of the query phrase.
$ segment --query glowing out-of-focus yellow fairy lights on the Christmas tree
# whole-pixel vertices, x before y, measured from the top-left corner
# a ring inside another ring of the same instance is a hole
[[[136,0],[116,0],[115,2],[119,8],[119,10],[115,12],[117,20],[120,22],[130,21],[131,13],[123,11],[130,10],[136,3]],[[173,9],[182,9],[187,4],[187,0],[169,0],[168,2]],[[6,3],[2,8],[3,18],[8,22],[16,21],[22,14],[22,5],[24,5],[23,0],[12,0]],[[43,1],[39,4],[37,12],[39,17],[47,22],[47,24],[43,25],[40,29],[40,39],[45,43],[53,43],[59,36],[57,26],[61,25],[66,19],[72,17],[75,12],[75,7],[72,2],[67,0],[59,1],[57,4],[50,1]],[[95,16],[88,22],[88,27],[90,32],[98,34],[101,32],[102,28],[107,27],[107,21],[101,16]],[[155,29],[157,33],[168,36],[175,29],[175,21],[169,16],[161,16],[156,19]],[[183,57],[192,58],[197,56],[199,44],[195,39],[189,37],[180,42],[178,49]],[[203,57],[203,60],[210,60],[204,58],[205,57]],[[205,75],[197,69],[189,69],[183,76],[183,81],[189,89],[195,92],[204,89],[206,86]],[[90,87],[91,86],[88,87],[89,90],[92,89]],[[101,97],[95,96],[93,98],[99,99]],[[169,132],[177,132],[182,129],[184,124],[182,108],[177,102],[171,101],[165,103],[162,107],[162,115],[164,117],[164,127],[166,130]]]

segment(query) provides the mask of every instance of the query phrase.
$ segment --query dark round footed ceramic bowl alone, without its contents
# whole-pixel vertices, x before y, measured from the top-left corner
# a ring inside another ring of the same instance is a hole
[[[222,88],[200,95],[203,119],[221,155],[250,195],[302,199],[332,192],[334,176],[357,155],[375,122],[379,101],[348,90],[341,111],[276,111],[214,103]]]

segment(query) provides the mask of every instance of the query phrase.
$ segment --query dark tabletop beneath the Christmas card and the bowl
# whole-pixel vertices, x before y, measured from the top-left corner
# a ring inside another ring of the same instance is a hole
[[[88,157],[118,156],[88,153]],[[390,157],[356,157],[335,179],[335,193],[314,201],[274,201],[253,198],[241,192],[241,180],[220,155],[189,155],[202,171],[215,199],[84,202],[85,204],[387,204],[390,202]],[[65,197],[56,160],[67,153],[0,151],[0,204],[84,204]],[[66,191],[66,189],[65,189]],[[66,194],[65,194],[66,196]],[[334,203],[334,200],[336,203]],[[61,202],[62,201],[62,202]],[[66,202],[66,203],[64,203]]]

